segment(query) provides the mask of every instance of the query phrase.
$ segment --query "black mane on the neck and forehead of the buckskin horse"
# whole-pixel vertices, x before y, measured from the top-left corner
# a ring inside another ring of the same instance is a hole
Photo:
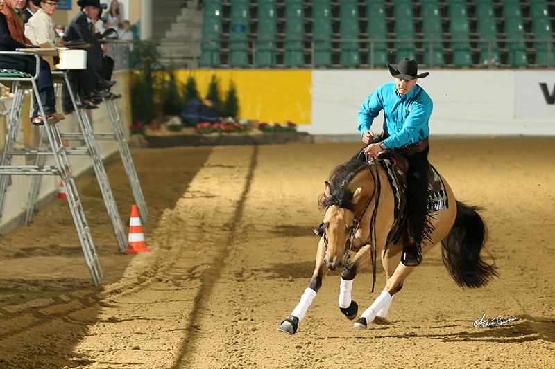
[[[318,206],[321,210],[325,210],[328,206],[336,205],[355,212],[355,204],[352,202],[353,193],[349,190],[349,183],[362,170],[368,168],[368,163],[359,160],[350,160],[343,164],[337,165],[330,174],[329,183],[331,186],[331,195],[325,193],[320,195]]]

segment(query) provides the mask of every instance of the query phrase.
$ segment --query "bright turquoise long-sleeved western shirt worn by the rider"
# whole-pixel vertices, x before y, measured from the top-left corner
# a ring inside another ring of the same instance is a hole
[[[384,110],[385,127],[389,137],[386,147],[409,145],[427,138],[429,117],[432,115],[432,99],[415,84],[407,95],[400,96],[395,81],[382,84],[364,100],[359,109],[359,131],[364,134],[370,129],[374,118]]]

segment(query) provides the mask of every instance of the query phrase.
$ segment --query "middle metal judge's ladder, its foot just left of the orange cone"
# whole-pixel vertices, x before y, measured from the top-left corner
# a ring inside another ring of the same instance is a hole
[[[61,74],[64,76],[64,80],[67,83],[69,95],[71,96],[71,102],[74,107],[78,107],[78,100],[74,91],[71,89],[69,80],[67,79],[67,72],[62,71]],[[53,71],[53,75],[60,75],[60,71]],[[66,140],[85,140],[85,147],[67,147],[66,152],[67,154],[89,155],[91,157],[94,174],[96,174],[96,180],[99,183],[106,210],[108,211],[108,215],[112,221],[112,228],[114,228],[114,234],[116,235],[119,249],[123,253],[128,248],[128,241],[126,233],[123,231],[121,218],[119,217],[116,201],[114,199],[114,195],[112,194],[112,188],[110,187],[110,182],[108,181],[108,175],[106,174],[106,170],[102,162],[99,147],[96,145],[96,140],[94,139],[94,134],[92,133],[92,125],[90,123],[89,116],[87,116],[85,109],[75,109],[75,112],[78,114],[78,123],[82,133],[69,134],[69,136],[67,134],[60,134],[60,138]],[[41,142],[42,141],[43,140],[41,140]],[[44,163],[44,157],[41,157],[40,154],[46,154],[47,150],[44,150],[44,147],[39,146],[39,148],[33,151],[39,154],[37,158],[37,165]],[[40,178],[33,178],[31,183],[25,219],[26,223],[31,222],[34,215],[36,207],[35,204],[40,192],[40,182]]]

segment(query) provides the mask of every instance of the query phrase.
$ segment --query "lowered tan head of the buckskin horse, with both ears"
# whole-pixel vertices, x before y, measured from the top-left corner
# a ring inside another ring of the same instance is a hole
[[[324,264],[331,271],[343,267],[345,251],[349,247],[355,227],[354,204],[357,204],[357,201],[359,201],[361,190],[362,188],[359,187],[352,194],[351,204],[353,206],[349,206],[350,209],[339,204],[333,204],[328,206],[325,211],[323,220],[323,237],[326,246]],[[325,183],[324,195],[326,198],[332,196],[330,183]]]

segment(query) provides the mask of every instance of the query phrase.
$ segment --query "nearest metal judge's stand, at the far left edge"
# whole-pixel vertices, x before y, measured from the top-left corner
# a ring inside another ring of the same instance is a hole
[[[37,78],[40,69],[40,58],[37,51],[40,49],[31,49],[31,51],[0,51],[0,54],[11,54],[11,55],[34,55],[37,59],[37,69],[35,75],[29,75],[28,73],[22,73],[19,71],[3,71],[0,74],[0,83],[11,84],[12,91],[14,93],[14,98],[12,101],[12,107],[10,109],[10,118],[8,120],[8,127],[6,127],[6,143],[4,145],[4,150],[2,154],[2,163],[0,165],[0,217],[3,212],[3,206],[6,200],[6,190],[8,187],[8,179],[10,175],[29,175],[33,174],[35,176],[40,175],[58,175],[65,186],[67,191],[67,203],[69,204],[69,209],[71,210],[71,215],[74,218],[74,223],[76,226],[77,234],[85,254],[85,260],[89,267],[89,271],[92,276],[92,281],[95,286],[99,285],[101,278],[103,277],[102,269],[100,266],[99,257],[96,254],[96,249],[92,242],[92,236],[87,225],[87,219],[85,218],[85,212],[83,211],[83,205],[79,199],[77,192],[77,187],[75,184],[74,177],[71,176],[71,168],[69,166],[69,161],[67,160],[66,148],[62,143],[62,138],[60,137],[60,132],[56,125],[51,125],[49,123],[44,123],[44,131],[46,131],[46,136],[48,136],[48,141],[50,144],[50,149],[47,150],[48,154],[53,155],[56,165],[11,165],[12,155],[17,154],[14,150],[15,138],[17,136],[17,128],[21,122],[21,110],[24,100],[24,89],[31,87],[35,98],[40,107],[40,114],[46,117],[44,113],[44,107],[40,100],[40,91],[37,86]],[[41,53],[42,54],[42,53]],[[46,152],[46,150],[44,150]],[[43,156],[42,152],[35,152],[35,154],[40,154]],[[44,153],[46,154],[46,153]],[[0,218],[1,220],[1,218]]]

